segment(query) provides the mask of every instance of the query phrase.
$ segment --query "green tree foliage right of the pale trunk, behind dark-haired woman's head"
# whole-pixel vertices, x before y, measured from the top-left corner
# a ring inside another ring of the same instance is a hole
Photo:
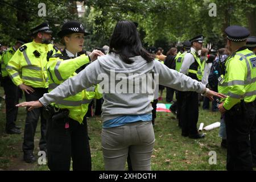
[[[86,0],[91,11],[84,17],[102,45],[118,20],[139,23],[145,46],[170,48],[172,43],[203,34],[206,43],[224,46],[224,30],[232,24],[249,27],[255,35],[255,0]],[[209,4],[216,3],[217,16],[209,16]],[[254,13],[251,21],[247,18]],[[93,36],[91,36],[93,38]],[[102,38],[102,39],[101,39]],[[167,51],[167,49],[166,49]]]

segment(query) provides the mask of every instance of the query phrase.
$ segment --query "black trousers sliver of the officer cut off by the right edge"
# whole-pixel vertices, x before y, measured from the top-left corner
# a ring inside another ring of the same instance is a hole
[[[253,165],[256,166],[256,100],[254,101],[255,118],[250,130],[251,154],[253,155]]]

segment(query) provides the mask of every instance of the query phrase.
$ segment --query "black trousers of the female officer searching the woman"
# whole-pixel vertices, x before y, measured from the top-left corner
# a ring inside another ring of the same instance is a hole
[[[67,122],[69,127],[65,128]],[[92,170],[86,117],[83,123],[71,118],[47,121],[47,159],[51,171],[69,171],[71,158],[73,170]]]

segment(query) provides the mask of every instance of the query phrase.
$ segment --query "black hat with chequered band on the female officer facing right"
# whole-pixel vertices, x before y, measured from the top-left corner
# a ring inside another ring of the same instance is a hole
[[[85,32],[84,26],[77,21],[69,21],[63,24],[61,31],[59,31],[57,35],[63,38],[65,35],[73,33],[83,33],[85,36],[90,35],[88,32]]]

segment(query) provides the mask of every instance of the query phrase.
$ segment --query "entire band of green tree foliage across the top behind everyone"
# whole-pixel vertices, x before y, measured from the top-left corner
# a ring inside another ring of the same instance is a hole
[[[47,7],[47,16],[38,16],[38,4]],[[81,20],[91,35],[87,50],[109,43],[115,23],[128,19],[139,23],[145,47],[155,45],[165,51],[177,42],[203,34],[206,43],[224,46],[224,30],[232,24],[248,27],[256,35],[256,0],[84,0],[86,11],[80,19],[75,1],[2,0],[0,1],[0,42],[28,38],[29,30],[43,21],[53,29],[53,37],[67,20]],[[216,3],[217,16],[209,16],[209,4]]]

